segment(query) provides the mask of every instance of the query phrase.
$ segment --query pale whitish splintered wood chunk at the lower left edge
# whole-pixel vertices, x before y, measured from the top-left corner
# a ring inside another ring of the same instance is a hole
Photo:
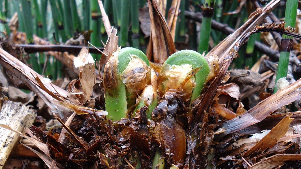
[[[21,133],[25,133],[25,128],[29,128],[35,119],[36,112],[22,105],[22,103],[5,101],[0,112],[0,124],[9,125]],[[0,127],[0,169],[4,167],[19,139],[20,134]]]

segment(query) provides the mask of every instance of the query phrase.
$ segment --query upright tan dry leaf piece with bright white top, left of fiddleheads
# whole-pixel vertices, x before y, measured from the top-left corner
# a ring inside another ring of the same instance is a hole
[[[96,78],[93,57],[85,47],[79,52],[78,57],[74,58],[74,66],[79,68],[79,80],[82,84],[85,101],[88,101],[91,99]]]

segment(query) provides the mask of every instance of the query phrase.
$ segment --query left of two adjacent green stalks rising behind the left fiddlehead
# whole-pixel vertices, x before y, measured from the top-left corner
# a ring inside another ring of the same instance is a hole
[[[120,45],[126,46],[126,42],[128,41],[129,35],[129,13],[130,13],[130,1],[122,0],[121,1],[121,25],[120,25]]]

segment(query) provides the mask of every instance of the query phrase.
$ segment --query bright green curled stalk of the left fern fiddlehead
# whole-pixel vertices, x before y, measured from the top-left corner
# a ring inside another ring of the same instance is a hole
[[[130,54],[136,55],[141,60],[143,60],[147,66],[149,66],[149,62],[147,57],[143,52],[135,48],[122,48],[118,53],[118,76],[119,76],[119,86],[116,87],[115,90],[107,90],[105,88],[104,91],[104,100],[106,111],[109,113],[107,118],[112,119],[114,121],[120,120],[121,118],[125,118],[127,114],[127,98],[126,98],[126,86],[121,81],[121,73],[126,69],[130,62]],[[111,93],[109,93],[111,92]]]

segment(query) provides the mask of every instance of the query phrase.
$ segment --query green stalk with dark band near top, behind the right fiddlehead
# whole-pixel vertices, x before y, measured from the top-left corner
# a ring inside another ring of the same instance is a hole
[[[200,30],[200,41],[199,41],[199,48],[198,52],[200,54],[207,54],[208,48],[209,48],[209,38],[210,38],[210,32],[211,32],[211,20],[213,17],[213,8],[215,0],[205,0],[205,4],[208,4],[209,7],[207,8],[206,5],[204,5],[203,8],[203,20]]]

